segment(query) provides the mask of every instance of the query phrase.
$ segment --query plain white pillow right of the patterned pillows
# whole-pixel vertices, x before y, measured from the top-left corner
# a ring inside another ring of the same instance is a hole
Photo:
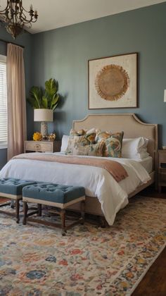
[[[136,137],[134,139],[123,139],[122,157],[127,159],[144,159],[149,156],[147,152],[148,139]]]

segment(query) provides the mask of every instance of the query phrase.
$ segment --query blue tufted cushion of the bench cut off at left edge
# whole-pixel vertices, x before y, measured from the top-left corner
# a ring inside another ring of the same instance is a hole
[[[13,199],[22,199],[23,187],[34,184],[34,181],[15,178],[0,179],[0,196]]]

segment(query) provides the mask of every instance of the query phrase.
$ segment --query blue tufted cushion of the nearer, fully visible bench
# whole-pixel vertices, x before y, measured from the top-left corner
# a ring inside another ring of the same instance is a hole
[[[85,195],[84,187],[59,185],[53,183],[37,183],[23,188],[23,200],[33,198],[38,201],[56,203],[58,207],[63,208],[69,202],[83,197]],[[48,203],[49,204],[49,203]]]

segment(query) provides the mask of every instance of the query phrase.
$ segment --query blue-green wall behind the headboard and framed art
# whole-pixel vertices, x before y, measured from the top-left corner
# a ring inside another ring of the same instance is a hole
[[[33,35],[33,84],[44,86],[56,78],[64,97],[50,131],[68,134],[72,120],[87,113],[133,112],[147,123],[159,123],[160,145],[166,144],[165,16],[162,3]],[[132,52],[139,53],[139,108],[88,110],[87,61]]]

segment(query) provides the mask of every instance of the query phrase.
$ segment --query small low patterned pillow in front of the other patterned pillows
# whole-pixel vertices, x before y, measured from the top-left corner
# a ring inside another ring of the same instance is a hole
[[[86,155],[86,156],[103,156],[104,142],[98,142],[96,144],[89,144],[86,146],[74,147],[72,149],[72,155]]]

